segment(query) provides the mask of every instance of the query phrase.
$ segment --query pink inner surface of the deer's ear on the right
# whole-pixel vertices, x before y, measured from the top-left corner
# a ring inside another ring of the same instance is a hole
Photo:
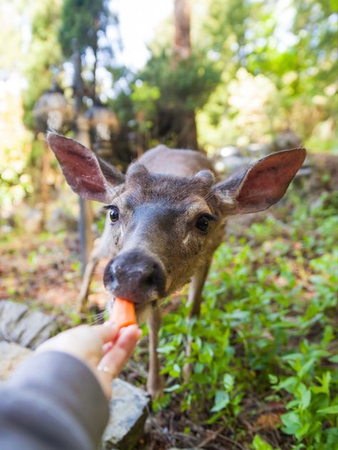
[[[304,162],[305,150],[280,152],[257,162],[245,177],[237,202],[247,212],[266,209],[278,202]]]

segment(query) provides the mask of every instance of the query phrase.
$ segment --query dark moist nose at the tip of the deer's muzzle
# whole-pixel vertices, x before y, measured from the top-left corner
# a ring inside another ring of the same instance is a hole
[[[164,273],[154,258],[140,251],[126,251],[109,261],[103,283],[113,295],[143,303],[163,294]]]

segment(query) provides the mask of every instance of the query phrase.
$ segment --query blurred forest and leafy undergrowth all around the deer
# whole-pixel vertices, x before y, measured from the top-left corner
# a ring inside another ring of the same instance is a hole
[[[74,312],[78,199],[46,147],[47,128],[82,132],[120,169],[159,142],[205,151],[224,174],[302,142],[307,164],[280,206],[230,221],[202,318],[186,323],[184,291],[168,303],[167,388],[147,445],[334,449],[337,0],[188,4],[172,1],[135,67],[123,63],[121,0],[0,0],[0,299],[57,313],[63,326],[99,320],[106,301],[103,264],[90,312]],[[143,14],[135,30],[151,9]],[[104,216],[93,209],[98,236]],[[188,338],[194,371],[184,382]],[[146,341],[145,330],[126,371],[140,385]]]

